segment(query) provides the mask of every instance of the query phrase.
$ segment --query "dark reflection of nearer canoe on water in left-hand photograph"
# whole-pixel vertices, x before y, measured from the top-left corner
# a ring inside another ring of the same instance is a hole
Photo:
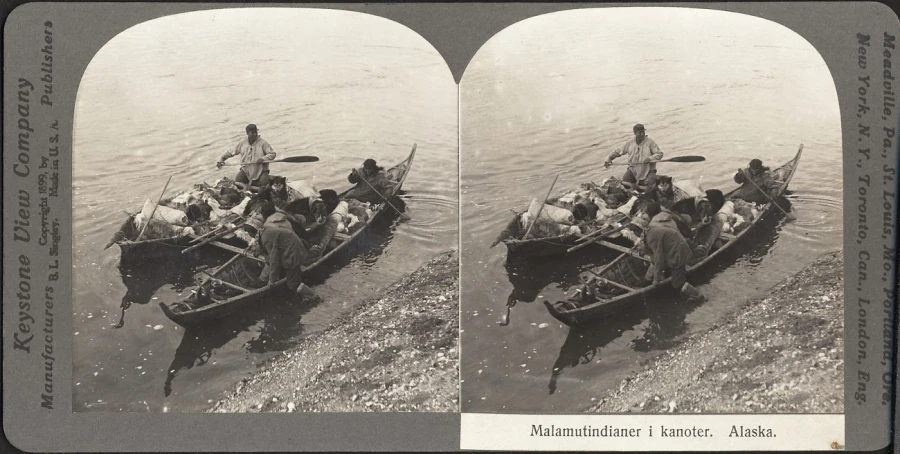
[[[400,206],[398,208],[403,209]],[[374,260],[389,244],[393,237],[392,227],[398,219],[399,214],[393,211],[376,219],[352,244],[323,263],[314,274],[307,276],[306,283],[312,287],[321,284],[350,264],[354,258]],[[183,279],[181,275],[179,278]],[[193,284],[195,278],[194,274],[189,274],[188,285]],[[153,290],[159,286],[161,285]],[[248,352],[262,354],[291,347],[303,334],[303,316],[322,303],[324,302],[309,304],[285,289],[242,308],[239,312],[186,329],[169,365],[163,386],[164,394],[168,397],[172,393],[172,383],[180,372],[207,364],[216,350],[254,327],[258,327],[258,334],[245,344]]]

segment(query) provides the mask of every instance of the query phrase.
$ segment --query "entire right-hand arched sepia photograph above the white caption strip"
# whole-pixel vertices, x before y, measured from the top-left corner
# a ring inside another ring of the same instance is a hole
[[[558,12],[488,40],[459,99],[463,412],[844,412],[840,113],[809,42]]]

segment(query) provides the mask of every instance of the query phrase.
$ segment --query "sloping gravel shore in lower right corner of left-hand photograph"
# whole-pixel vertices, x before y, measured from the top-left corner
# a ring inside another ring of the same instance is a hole
[[[455,250],[268,361],[208,410],[376,411],[459,411]]]

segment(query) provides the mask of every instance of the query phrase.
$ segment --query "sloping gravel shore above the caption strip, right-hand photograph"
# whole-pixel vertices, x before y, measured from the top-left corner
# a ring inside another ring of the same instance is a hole
[[[843,413],[843,271],[841,251],[825,254],[648,360],[588,411]]]

